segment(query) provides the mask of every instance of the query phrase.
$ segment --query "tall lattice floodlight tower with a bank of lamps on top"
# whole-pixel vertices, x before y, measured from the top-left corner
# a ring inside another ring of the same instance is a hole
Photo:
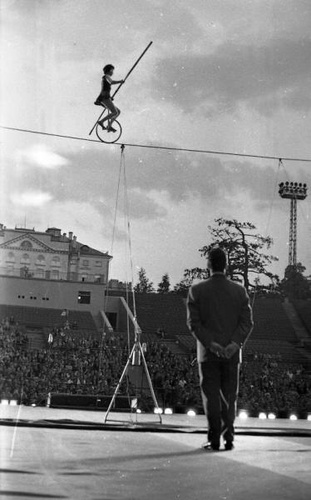
[[[307,197],[307,184],[301,182],[281,182],[279,195],[290,200],[288,265],[297,264],[297,200]]]

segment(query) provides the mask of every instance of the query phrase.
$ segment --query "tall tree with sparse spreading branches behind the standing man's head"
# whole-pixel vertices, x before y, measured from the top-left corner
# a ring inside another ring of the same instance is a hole
[[[239,222],[236,219],[215,219],[214,226],[208,226],[211,242],[199,249],[202,257],[207,257],[210,250],[219,246],[228,256],[227,274],[232,280],[242,281],[245,288],[264,290],[271,286],[262,285],[261,278],[266,277],[275,285],[278,277],[268,270],[268,266],[277,261],[277,257],[265,253],[273,244],[270,236],[256,233],[256,226],[251,222]],[[182,293],[194,279],[208,277],[206,269],[186,269],[184,279],[175,287],[175,291]]]

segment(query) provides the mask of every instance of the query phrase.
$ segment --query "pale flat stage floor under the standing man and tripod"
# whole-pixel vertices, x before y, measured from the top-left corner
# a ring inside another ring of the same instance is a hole
[[[310,500],[311,422],[236,421],[205,452],[205,417],[0,406],[0,498]]]

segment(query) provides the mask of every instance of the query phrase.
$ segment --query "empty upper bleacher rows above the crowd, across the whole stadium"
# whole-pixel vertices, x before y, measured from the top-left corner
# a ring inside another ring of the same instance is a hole
[[[311,332],[311,308],[308,301],[296,301],[295,307],[306,328]],[[142,329],[142,342],[168,343],[174,352],[194,353],[195,341],[186,325],[185,299],[178,294],[136,294],[136,309]],[[66,318],[62,309],[32,308],[0,305],[1,317],[14,317],[31,338],[30,346],[46,343],[49,329],[61,327]],[[254,329],[246,344],[245,353],[281,354],[286,361],[303,362],[295,330],[279,299],[258,298],[253,304]],[[69,322],[75,323],[76,336],[96,335],[97,329],[90,312],[70,311]],[[311,333],[310,333],[311,336]],[[33,337],[33,338],[32,338]],[[175,345],[173,345],[175,343]]]

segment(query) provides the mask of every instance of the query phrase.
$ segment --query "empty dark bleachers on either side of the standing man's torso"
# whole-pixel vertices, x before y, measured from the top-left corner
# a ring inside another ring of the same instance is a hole
[[[255,324],[245,354],[280,354],[284,361],[306,362],[301,349],[298,349],[299,341],[282,301],[278,298],[256,298],[252,305]],[[164,338],[177,340],[189,353],[195,352],[195,340],[186,325],[186,304],[182,296],[173,293],[137,294],[136,308],[143,341],[148,342],[150,338],[152,342],[161,342],[157,332],[162,330]]]

